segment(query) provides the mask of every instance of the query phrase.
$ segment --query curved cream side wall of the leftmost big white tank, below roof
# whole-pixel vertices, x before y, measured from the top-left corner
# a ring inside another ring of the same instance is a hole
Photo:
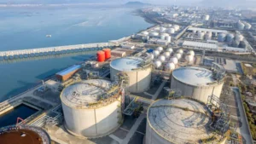
[[[99,137],[119,127],[120,101],[106,107],[79,109],[62,102],[67,130],[73,135]]]

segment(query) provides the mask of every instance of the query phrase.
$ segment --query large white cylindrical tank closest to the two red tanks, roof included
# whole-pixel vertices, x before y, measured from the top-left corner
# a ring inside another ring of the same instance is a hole
[[[129,90],[131,93],[144,92],[151,82],[151,63],[137,57],[115,59],[110,63],[110,78],[115,79],[119,72],[125,72],[129,77]]]

